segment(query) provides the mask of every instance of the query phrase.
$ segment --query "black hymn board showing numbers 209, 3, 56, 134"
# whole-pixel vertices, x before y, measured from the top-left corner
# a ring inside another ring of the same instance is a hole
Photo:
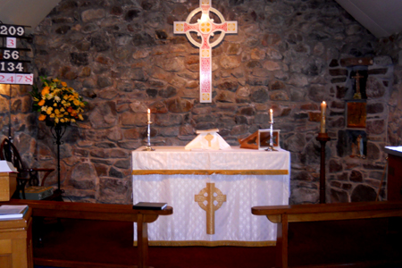
[[[0,38],[3,38],[0,47],[0,84],[32,85],[33,74],[27,70],[30,61],[24,60],[21,55],[22,51],[30,49],[18,44],[21,38],[26,38],[25,26],[0,24]]]

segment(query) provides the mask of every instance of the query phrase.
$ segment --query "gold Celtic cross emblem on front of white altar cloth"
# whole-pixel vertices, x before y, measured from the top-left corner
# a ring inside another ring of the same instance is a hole
[[[206,197],[205,197],[206,193]],[[216,196],[214,195],[216,194]],[[222,195],[222,191],[219,188],[215,188],[214,183],[206,182],[206,188],[203,188],[195,197],[198,205],[206,212],[206,233],[215,233],[215,211],[217,211],[226,202],[226,195]],[[204,202],[206,201],[206,205]],[[214,202],[217,202],[214,205]]]

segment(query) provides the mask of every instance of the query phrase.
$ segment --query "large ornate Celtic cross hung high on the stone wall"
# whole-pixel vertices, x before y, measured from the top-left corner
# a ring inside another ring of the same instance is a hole
[[[186,21],[174,21],[173,32],[175,34],[186,34],[188,40],[194,46],[199,47],[199,98],[200,103],[212,102],[212,48],[219,45],[227,33],[238,32],[238,21],[225,21],[222,13],[211,7],[212,0],[200,0],[197,9],[189,13]],[[195,14],[202,12],[201,19],[197,23],[190,24],[191,18]],[[215,23],[209,18],[209,12],[215,13],[222,23]],[[190,32],[196,32],[201,37],[201,43],[197,43],[191,37]],[[220,31],[221,36],[209,44],[209,38],[214,36],[214,32]]]

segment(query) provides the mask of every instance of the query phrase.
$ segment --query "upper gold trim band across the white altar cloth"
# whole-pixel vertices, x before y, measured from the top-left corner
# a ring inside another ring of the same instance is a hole
[[[289,175],[288,170],[133,170],[131,175],[191,174],[191,175]]]

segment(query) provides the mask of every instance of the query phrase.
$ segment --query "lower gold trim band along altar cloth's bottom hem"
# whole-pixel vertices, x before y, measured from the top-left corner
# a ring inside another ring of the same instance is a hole
[[[134,247],[137,247],[137,241],[133,243]],[[151,247],[222,247],[222,246],[233,246],[233,247],[274,247],[276,246],[276,241],[231,241],[231,240],[221,240],[221,241],[148,241],[148,246]]]

